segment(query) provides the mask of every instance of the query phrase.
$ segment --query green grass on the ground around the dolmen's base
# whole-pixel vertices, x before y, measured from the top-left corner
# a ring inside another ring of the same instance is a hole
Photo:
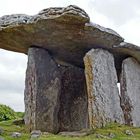
[[[11,137],[12,132],[20,132],[22,133],[21,138],[16,138],[17,140],[29,140],[30,134],[27,133],[24,126],[16,126],[12,124],[12,121],[4,121],[0,122],[0,127],[4,129],[4,133],[0,135],[0,137],[5,138],[5,140],[15,140],[15,138]],[[134,135],[127,136],[125,134],[126,130],[131,130]],[[132,128],[127,126],[120,126],[118,124],[110,124],[103,129],[97,129],[93,132],[93,134],[84,137],[64,137],[60,135],[42,135],[39,140],[107,140],[109,133],[115,134],[115,137],[111,140],[140,140],[140,128]],[[96,135],[100,134],[104,136],[104,138],[96,138]]]

